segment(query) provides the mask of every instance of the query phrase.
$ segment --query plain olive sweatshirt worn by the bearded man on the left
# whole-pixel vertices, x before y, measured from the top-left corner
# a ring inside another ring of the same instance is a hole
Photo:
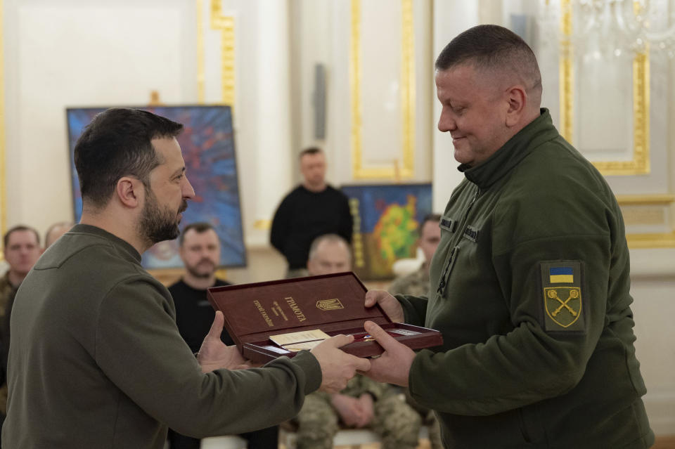
[[[6,448],[163,448],[167,426],[203,438],[295,416],[319,388],[304,351],[203,374],[167,289],[127,242],[77,225],[39,259],[11,318]]]

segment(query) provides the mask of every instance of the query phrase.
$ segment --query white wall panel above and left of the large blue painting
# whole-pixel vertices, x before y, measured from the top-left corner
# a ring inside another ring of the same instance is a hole
[[[194,101],[181,0],[4,2],[7,224],[72,219],[65,108]]]

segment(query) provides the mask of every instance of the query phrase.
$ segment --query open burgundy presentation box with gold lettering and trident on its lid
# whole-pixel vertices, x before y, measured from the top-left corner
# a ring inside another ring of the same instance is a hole
[[[270,335],[307,330],[326,334],[354,334],[342,350],[359,357],[378,356],[384,350],[364,331],[371,320],[411,349],[439,346],[437,330],[392,323],[379,304],[366,308],[366,287],[354,273],[335,273],[208,289],[213,308],[225,315],[225,328],[244,358],[267,362],[295,352],[278,346]]]

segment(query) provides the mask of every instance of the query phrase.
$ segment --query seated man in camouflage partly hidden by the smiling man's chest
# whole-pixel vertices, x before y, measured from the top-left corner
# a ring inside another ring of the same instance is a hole
[[[429,291],[429,264],[441,241],[441,228],[438,226],[440,221],[441,216],[439,214],[428,214],[424,217],[420,224],[420,239],[418,241],[418,245],[424,253],[424,263],[422,263],[422,266],[417,271],[394,279],[388,289],[391,294],[409,294],[413,297],[427,296]],[[406,403],[411,405],[420,414],[423,418],[423,424],[429,427],[429,441],[431,442],[432,449],[442,449],[441,429],[433,410],[416,403],[411,398],[408,389],[404,391],[406,393]]]

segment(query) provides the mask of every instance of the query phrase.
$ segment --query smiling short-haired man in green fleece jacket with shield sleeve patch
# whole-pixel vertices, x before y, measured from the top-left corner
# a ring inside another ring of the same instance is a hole
[[[540,109],[532,50],[495,25],[436,61],[440,131],[465,179],[441,219],[429,297],[371,291],[393,320],[440,330],[368,375],[410,387],[448,448],[648,448],[621,211],[603,176]]]

